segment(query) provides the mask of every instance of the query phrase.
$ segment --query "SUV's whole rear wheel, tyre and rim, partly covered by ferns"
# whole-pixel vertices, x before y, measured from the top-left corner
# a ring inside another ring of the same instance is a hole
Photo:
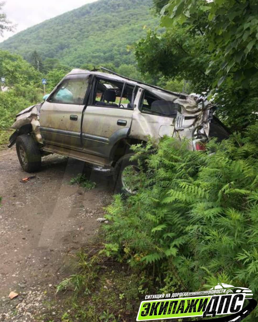
[[[137,194],[140,167],[137,160],[130,160],[134,154],[126,154],[117,161],[115,166],[115,192],[126,196]]]

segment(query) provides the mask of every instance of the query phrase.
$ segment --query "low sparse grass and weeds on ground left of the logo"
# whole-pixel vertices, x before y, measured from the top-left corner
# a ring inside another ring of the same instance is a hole
[[[104,246],[99,238],[92,241],[88,254],[87,250],[77,253],[75,274],[56,288],[57,300],[61,292],[67,292],[56,315],[61,321],[129,322],[135,320],[143,294],[154,291],[146,288],[151,283],[145,272],[100,254]]]

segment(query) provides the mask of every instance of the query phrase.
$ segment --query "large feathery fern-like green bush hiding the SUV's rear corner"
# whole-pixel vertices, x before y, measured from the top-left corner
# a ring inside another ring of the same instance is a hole
[[[188,146],[164,138],[152,153],[151,143],[133,147],[148,170],[137,195],[107,208],[106,239],[118,260],[151,266],[162,292],[224,282],[258,295],[258,124],[212,139],[207,152]]]

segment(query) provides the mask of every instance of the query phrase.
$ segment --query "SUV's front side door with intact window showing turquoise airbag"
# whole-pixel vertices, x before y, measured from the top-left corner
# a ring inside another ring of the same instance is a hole
[[[82,149],[81,120],[87,100],[89,75],[69,75],[50,95],[40,111],[44,143]]]

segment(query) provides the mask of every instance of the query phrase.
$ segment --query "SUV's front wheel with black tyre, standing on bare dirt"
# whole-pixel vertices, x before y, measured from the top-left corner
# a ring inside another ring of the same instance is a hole
[[[35,172],[41,167],[41,153],[32,135],[23,134],[16,139],[16,152],[24,171]]]

